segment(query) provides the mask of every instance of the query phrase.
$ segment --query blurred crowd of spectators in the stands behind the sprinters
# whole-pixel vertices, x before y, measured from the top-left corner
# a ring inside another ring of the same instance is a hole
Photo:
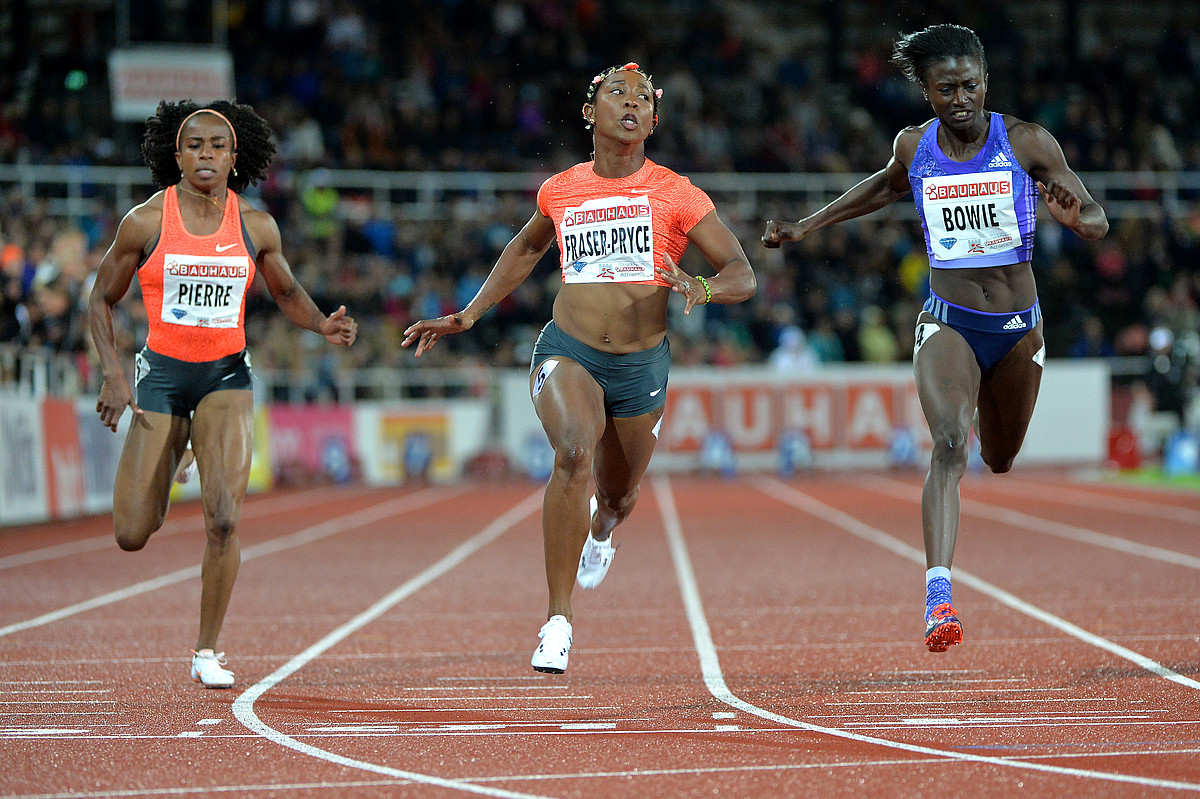
[[[162,11],[172,4],[143,5],[134,40],[181,26]],[[911,18],[883,13],[888,4],[848,4],[865,8],[869,31],[846,30],[830,5],[230,0],[238,100],[278,136],[272,178],[251,196],[280,221],[293,269],[318,304],[344,302],[362,325],[354,348],[317,368],[528,364],[558,286],[553,248],[476,335],[448,340],[420,364],[398,343],[410,320],[470,299],[533,212],[532,194],[502,194],[443,218],[382,218],[368,199],[330,187],[325,170],[548,175],[588,157],[580,119],[588,79],[631,59],[664,89],[648,155],[684,174],[881,168],[895,133],[930,116],[919,90],[888,64],[892,41],[946,19],[984,42],[989,108],[1044,125],[1078,172],[1200,170],[1200,29],[1186,20],[1127,40],[1102,17],[1067,47],[1062,34],[1008,24],[1001,12],[1015,4],[972,11],[935,1]],[[0,162],[139,163],[140,128],[109,121],[102,82],[73,91],[26,70],[0,78]],[[128,209],[53,218],[17,187],[0,188],[0,341],[78,353],[86,368],[89,277]],[[1156,343],[1169,335],[1172,352],[1190,352],[1194,386],[1200,197],[1188,199],[1174,216],[1114,218],[1094,244],[1043,223],[1034,268],[1051,358],[1150,355],[1151,334],[1165,331]],[[743,218],[719,198],[718,208],[751,257],[758,295],[674,319],[677,364],[796,371],[911,356],[928,284],[912,217],[878,215],[768,252],[758,244],[764,220],[814,209],[764,204]],[[121,305],[130,350],[145,331],[134,296]],[[280,314],[262,312],[264,302],[260,290],[248,307],[256,366],[311,370],[323,348],[298,347]]]

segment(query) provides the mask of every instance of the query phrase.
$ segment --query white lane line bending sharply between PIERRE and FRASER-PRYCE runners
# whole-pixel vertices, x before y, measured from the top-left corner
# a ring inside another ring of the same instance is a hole
[[[262,680],[250,686],[244,693],[241,693],[233,703],[233,715],[251,732],[254,732],[268,740],[275,741],[281,746],[287,746],[302,755],[313,757],[326,763],[336,763],[338,765],[348,765],[355,769],[362,769],[364,771],[373,771],[376,774],[383,774],[386,776],[401,777],[404,780],[410,780],[421,785],[434,785],[443,788],[450,788],[455,791],[464,791],[467,793],[476,793],[485,797],[504,797],[511,799],[548,799],[545,797],[538,797],[536,794],[529,793],[517,793],[515,791],[505,791],[502,788],[490,788],[481,785],[472,785],[463,780],[448,780],[439,776],[433,776],[431,774],[419,774],[415,771],[406,771],[403,769],[395,769],[390,765],[383,765],[380,763],[368,763],[366,761],[354,759],[352,757],[346,757],[344,755],[337,755],[336,752],[330,752],[324,749],[319,749],[311,744],[305,744],[302,741],[292,738],[274,727],[269,727],[264,721],[258,717],[254,713],[254,702],[263,696],[271,687],[278,683],[286,680],[288,677],[304,668],[313,659],[320,656],[330,647],[334,647],[342,639],[353,635],[358,630],[362,629],[371,621],[374,621],[380,615],[391,609],[395,605],[402,600],[412,596],[414,593],[428,585],[431,582],[448,573],[451,569],[460,565],[468,557],[478,552],[484,546],[491,543],[498,539],[503,533],[508,531],[512,525],[535,512],[541,507],[542,503],[542,491],[539,488],[535,493],[527,497],[520,504],[510,509],[508,512],[503,513],[494,522],[484,528],[480,533],[464,541],[463,543],[455,547],[446,557],[437,561],[421,573],[416,575],[407,583],[394,589],[391,593],[385,595],[378,602],[368,607],[362,613],[358,614],[346,624],[335,629],[332,632],[326,635],[324,638],[312,644],[299,655],[289,660],[288,662],[280,666],[277,669],[264,677]],[[526,697],[522,697],[526,698]]]

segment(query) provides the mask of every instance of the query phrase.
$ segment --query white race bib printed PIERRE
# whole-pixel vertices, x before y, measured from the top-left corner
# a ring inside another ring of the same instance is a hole
[[[246,256],[168,253],[162,268],[162,320],[192,328],[236,328],[248,277]]]

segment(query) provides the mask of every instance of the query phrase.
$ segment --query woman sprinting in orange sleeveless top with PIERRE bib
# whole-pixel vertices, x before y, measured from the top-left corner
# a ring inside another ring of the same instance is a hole
[[[162,102],[146,120],[142,154],[163,190],[121,220],[88,308],[104,377],[100,419],[115,432],[125,409],[133,411],[113,486],[113,527],[122,549],[145,546],[166,519],[191,440],[208,536],[191,677],[229,687],[234,674],[216,643],[240,563],[253,438],[246,290],[262,275],[293,324],[334,344],[352,344],[358,325],[344,306],[328,317],[317,308],[292,275],[275,220],[238,194],[266,176],[275,154],[270,126],[250,106]],[[136,392],[113,330],[113,307],[134,275],[150,323]]]

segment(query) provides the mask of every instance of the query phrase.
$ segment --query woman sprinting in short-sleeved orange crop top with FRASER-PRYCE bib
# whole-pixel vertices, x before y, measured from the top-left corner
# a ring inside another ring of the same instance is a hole
[[[595,588],[605,577],[612,530],[637,501],[666,402],[671,294],[684,295],[689,313],[696,305],[740,302],[755,293],[750,262],[708,196],[646,157],[661,94],[636,64],[593,78],[583,104],[593,160],[542,185],[538,210],[466,308],[413,324],[403,342],[415,343],[420,356],[442,336],[469,330],[557,241],[563,286],[529,376],[534,408],[554,449],[541,517],[550,608],[532,659],[539,672],[566,669],[571,590],[576,582]],[[689,242],[715,275],[679,269]]]

